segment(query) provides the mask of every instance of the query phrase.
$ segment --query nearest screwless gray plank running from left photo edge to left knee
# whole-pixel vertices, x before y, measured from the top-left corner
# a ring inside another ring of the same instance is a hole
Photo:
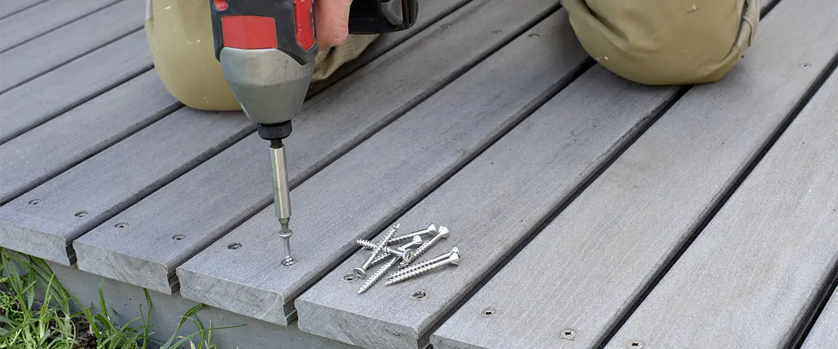
[[[0,145],[0,203],[46,182],[180,104],[149,70]]]

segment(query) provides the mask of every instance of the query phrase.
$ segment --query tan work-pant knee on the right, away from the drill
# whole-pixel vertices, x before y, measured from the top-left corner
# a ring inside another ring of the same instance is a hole
[[[758,0],[562,0],[582,47],[645,85],[722,79],[753,42]]]

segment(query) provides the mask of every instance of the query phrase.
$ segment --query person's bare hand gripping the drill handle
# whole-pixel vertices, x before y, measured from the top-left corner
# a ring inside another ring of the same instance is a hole
[[[343,44],[349,35],[349,5],[352,0],[314,1],[314,26],[318,49]]]

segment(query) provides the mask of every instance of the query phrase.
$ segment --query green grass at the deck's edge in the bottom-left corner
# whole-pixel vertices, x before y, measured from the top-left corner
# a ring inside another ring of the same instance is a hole
[[[0,249],[0,349],[173,349],[186,343],[193,349],[215,349],[212,331],[229,328],[205,328],[196,316],[203,305],[195,305],[181,316],[168,341],[154,341],[148,291],[147,312],[141,309],[141,316],[118,326],[108,315],[103,285],[100,312],[94,312],[65,290],[43,260]],[[186,321],[198,331],[178,336]]]

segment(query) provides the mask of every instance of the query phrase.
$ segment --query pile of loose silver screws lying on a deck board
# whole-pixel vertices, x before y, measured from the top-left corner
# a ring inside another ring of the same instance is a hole
[[[375,274],[370,276],[370,280],[366,280],[364,285],[362,285],[360,290],[358,290],[359,295],[366,292],[366,290],[370,290],[370,287],[375,285],[375,283],[378,282],[382,276],[384,276],[384,273],[387,272],[388,269],[391,269],[393,265],[396,265],[396,263],[400,261],[400,269],[396,270],[395,273],[391,274],[387,278],[385,285],[393,285],[404,280],[412,279],[416,276],[427,274],[432,270],[442,268],[443,266],[449,264],[459,264],[459,250],[454,247],[451,249],[451,252],[411,265],[416,258],[427,252],[428,249],[431,249],[431,247],[434,244],[437,244],[440,239],[448,239],[448,235],[450,233],[448,232],[448,228],[443,226],[439,226],[439,228],[437,228],[431,224],[429,227],[422,230],[396,236],[396,231],[399,229],[399,225],[399,223],[393,225],[390,230],[387,231],[384,239],[381,239],[380,241],[373,242],[370,240],[355,240],[355,242],[363,249],[372,250],[370,258],[368,258],[363,265],[353,270],[353,274],[359,279],[364,279],[366,276],[366,270],[370,269],[373,265],[379,264],[385,259],[390,259],[386,264],[376,270]],[[423,238],[427,239],[428,237],[431,239],[427,241],[423,240]],[[390,247],[395,244],[401,245],[396,249]],[[418,247],[413,249],[416,246]]]

